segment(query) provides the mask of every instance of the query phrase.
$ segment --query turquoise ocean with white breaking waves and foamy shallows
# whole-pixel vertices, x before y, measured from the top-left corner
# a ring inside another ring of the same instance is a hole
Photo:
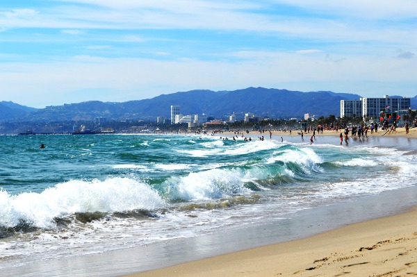
[[[339,145],[337,135],[316,135],[311,145],[310,135],[220,135],[0,136],[2,275],[294,224],[306,210],[417,185],[417,140],[379,134]]]

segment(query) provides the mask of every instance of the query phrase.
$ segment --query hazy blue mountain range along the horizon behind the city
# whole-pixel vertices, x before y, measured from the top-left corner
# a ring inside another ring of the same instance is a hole
[[[340,115],[341,100],[357,100],[358,94],[329,91],[300,92],[291,90],[248,87],[243,90],[219,91],[191,90],[161,94],[152,99],[126,102],[87,101],[82,103],[48,106],[35,109],[13,102],[0,102],[2,121],[66,121],[170,118],[170,106],[179,105],[183,115],[206,114],[222,119],[232,113],[243,117],[246,112],[271,118],[304,117],[309,113],[318,116]],[[417,106],[417,96],[411,99]]]

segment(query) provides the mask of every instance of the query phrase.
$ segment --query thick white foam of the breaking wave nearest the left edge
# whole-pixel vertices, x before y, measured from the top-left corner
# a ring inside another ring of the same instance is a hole
[[[52,228],[55,217],[75,212],[154,210],[164,205],[157,192],[131,178],[70,181],[40,194],[25,192],[10,196],[0,192],[0,226],[17,226],[23,220],[40,228]]]

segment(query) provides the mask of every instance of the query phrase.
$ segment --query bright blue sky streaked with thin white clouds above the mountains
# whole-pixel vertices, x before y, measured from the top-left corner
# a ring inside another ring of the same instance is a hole
[[[0,101],[245,87],[416,96],[417,1],[1,1]]]

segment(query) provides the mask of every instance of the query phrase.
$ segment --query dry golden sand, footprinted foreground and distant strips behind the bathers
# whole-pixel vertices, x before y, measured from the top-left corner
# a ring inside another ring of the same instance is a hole
[[[339,134],[340,132],[325,131],[320,135]],[[224,135],[233,135],[233,132]],[[289,132],[279,131],[272,135],[275,139],[277,136],[290,136]],[[417,138],[417,128],[411,128],[408,135],[404,128],[398,128],[391,134],[378,131],[368,135]],[[297,136],[297,131],[293,131],[291,136]],[[400,215],[350,224],[300,240],[256,247],[129,276],[345,275],[417,276],[417,207]]]

